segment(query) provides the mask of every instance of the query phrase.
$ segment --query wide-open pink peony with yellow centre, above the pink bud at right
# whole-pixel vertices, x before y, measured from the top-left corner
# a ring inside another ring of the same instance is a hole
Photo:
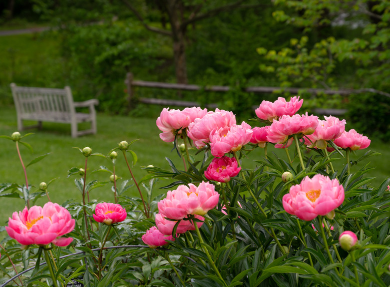
[[[344,201],[344,188],[337,179],[316,174],[306,176],[300,184],[290,187],[283,196],[283,208],[302,220],[312,220],[317,215],[326,215]]]

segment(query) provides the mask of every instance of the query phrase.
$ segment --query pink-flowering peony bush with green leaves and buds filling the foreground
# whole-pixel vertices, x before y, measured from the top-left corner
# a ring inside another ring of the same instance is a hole
[[[64,203],[44,182],[31,192],[18,149],[29,134],[1,136],[16,145],[25,183],[0,184],[0,196],[26,207],[1,229],[0,287],[388,286],[390,179],[374,186],[368,165],[352,173],[374,155],[361,151],[370,140],[344,119],[299,114],[302,103],[263,101],[251,125],[219,109],[164,108],[159,137],[180,166],[166,158],[170,170],[149,165],[138,179],[136,140],[106,154],[84,147],[84,168],[68,170],[80,198]],[[95,156],[110,181],[88,181]],[[118,160],[128,168],[120,183]],[[90,198],[98,186],[112,202]],[[47,203],[32,205],[41,196]]]

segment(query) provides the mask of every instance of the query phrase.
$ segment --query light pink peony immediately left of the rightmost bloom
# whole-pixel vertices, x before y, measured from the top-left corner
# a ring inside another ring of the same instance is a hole
[[[325,120],[318,120],[318,125],[311,135],[307,135],[304,143],[309,147],[325,149],[326,141],[338,138],[345,130],[345,120],[336,117],[324,117]],[[311,142],[310,142],[311,141]]]

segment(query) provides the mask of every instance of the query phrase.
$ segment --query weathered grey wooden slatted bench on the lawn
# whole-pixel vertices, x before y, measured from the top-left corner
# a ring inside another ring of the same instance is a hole
[[[73,102],[68,86],[63,89],[18,87],[10,84],[12,97],[16,107],[17,129],[41,128],[42,122],[67,123],[71,125],[73,138],[96,133],[96,99],[84,102]],[[87,107],[89,113],[76,112],[76,108]],[[37,125],[24,126],[23,120],[38,121]],[[90,129],[78,131],[77,125],[90,122]]]

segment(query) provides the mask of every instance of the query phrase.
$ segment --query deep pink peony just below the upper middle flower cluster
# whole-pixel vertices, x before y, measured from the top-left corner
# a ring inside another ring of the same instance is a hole
[[[204,176],[208,180],[228,182],[230,177],[236,176],[240,170],[241,168],[238,167],[235,158],[228,156],[215,157],[204,171]]]

